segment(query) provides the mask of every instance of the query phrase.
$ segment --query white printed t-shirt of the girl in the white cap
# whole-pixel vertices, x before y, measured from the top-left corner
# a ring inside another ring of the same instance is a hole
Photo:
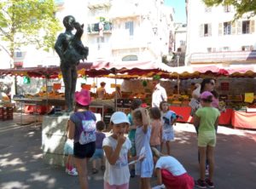
[[[108,136],[103,140],[102,146],[110,146],[114,151],[117,146],[117,140],[113,139],[112,136]],[[108,159],[106,159],[104,181],[108,182],[109,185],[123,185],[129,183],[130,171],[128,166],[128,151],[130,149],[131,141],[126,138],[116,163],[112,165],[108,162]]]

